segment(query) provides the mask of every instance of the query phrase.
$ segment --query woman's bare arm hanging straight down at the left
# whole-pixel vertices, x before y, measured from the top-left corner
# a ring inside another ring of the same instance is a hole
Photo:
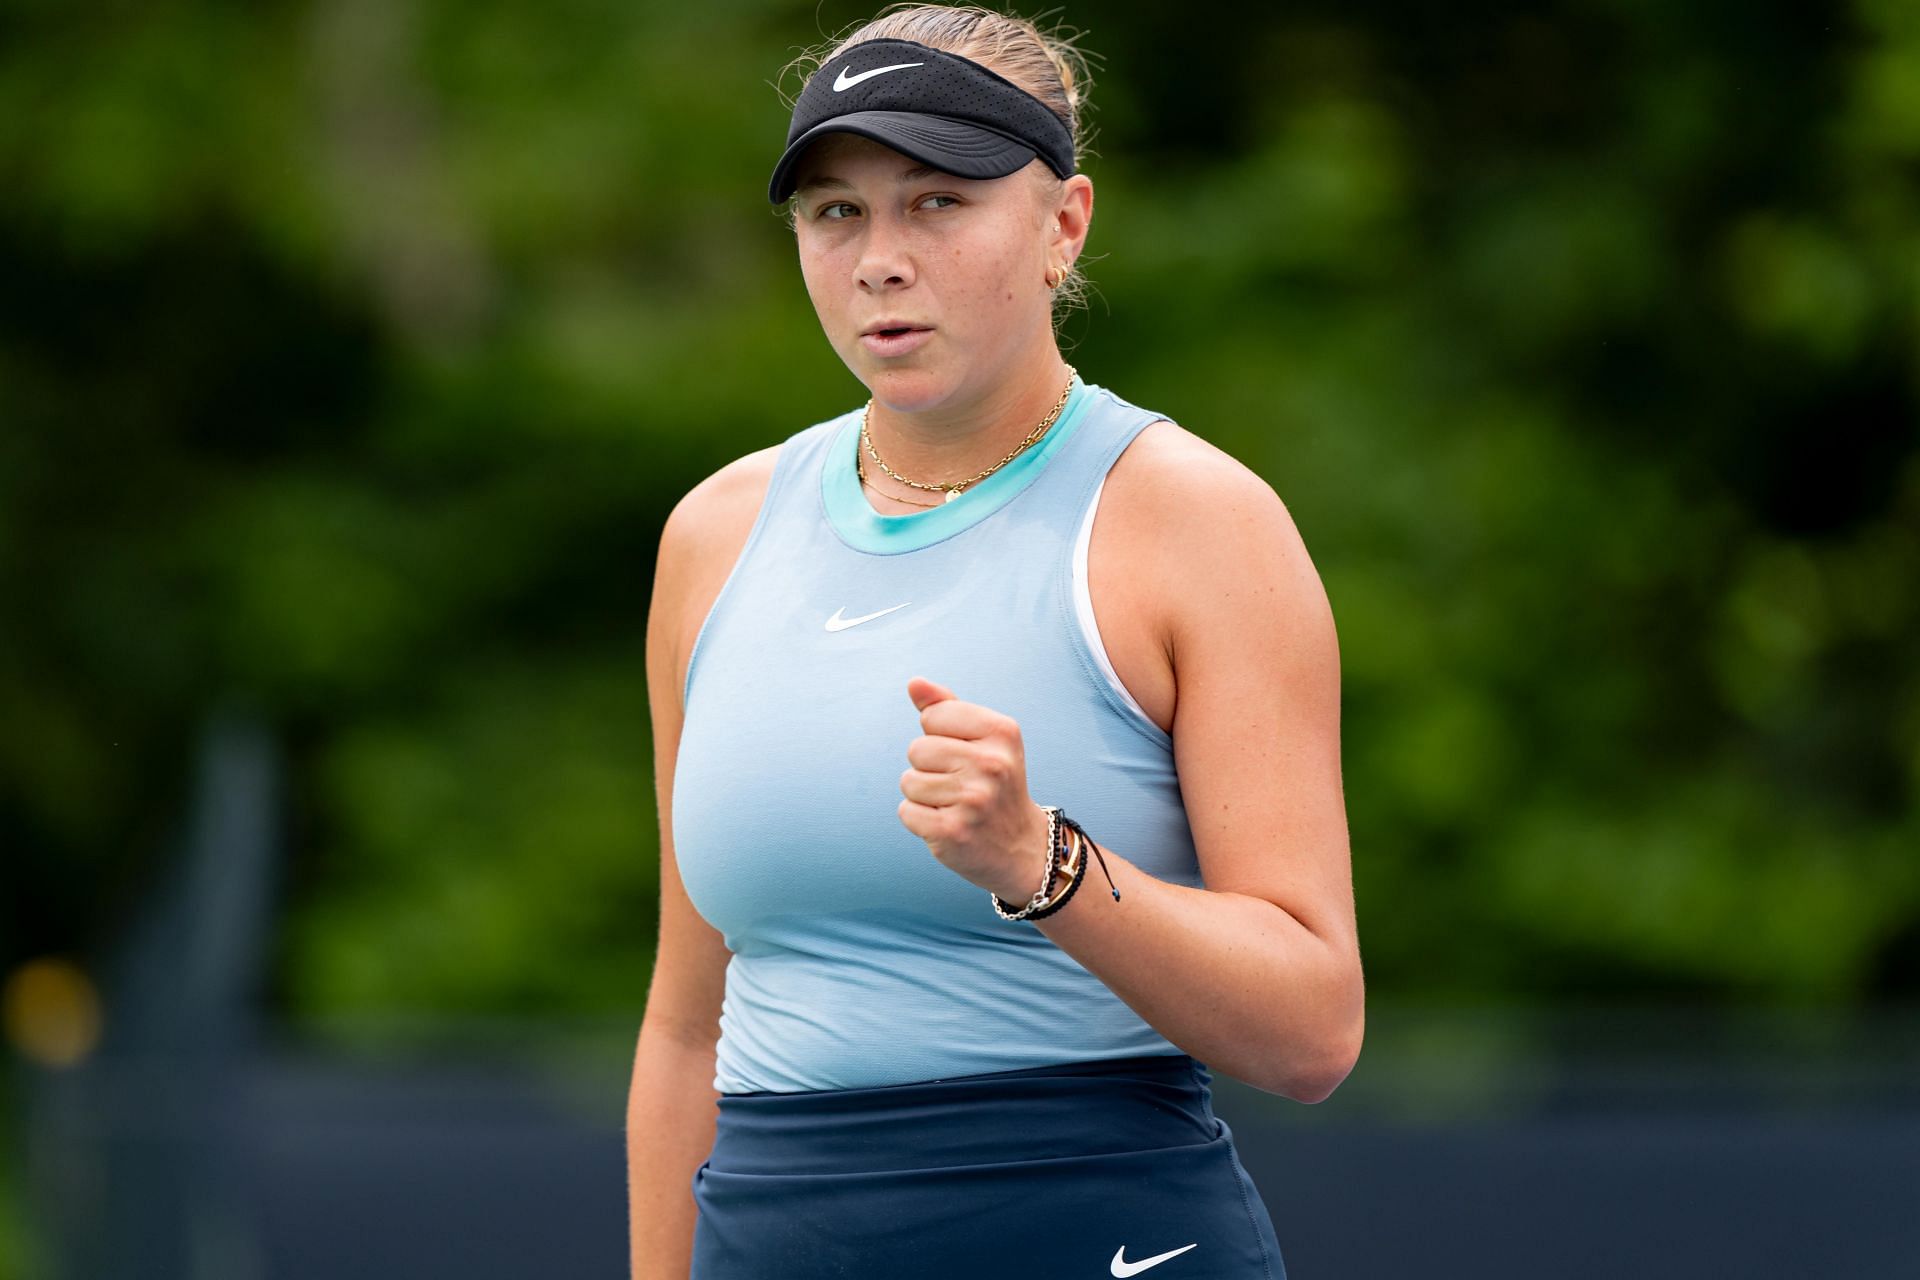
[[[660,942],[626,1102],[628,1224],[634,1280],[687,1280],[693,1173],[712,1151],[714,1046],[730,952],[680,881],[674,856],[674,758],[685,654],[758,516],[772,449],[695,486],[660,532],[647,610],[647,700],[660,812]]]

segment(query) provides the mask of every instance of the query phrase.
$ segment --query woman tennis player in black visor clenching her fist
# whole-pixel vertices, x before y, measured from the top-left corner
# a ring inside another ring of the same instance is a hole
[[[795,102],[768,196],[870,399],[660,537],[639,1280],[1284,1276],[1210,1079],[1359,1054],[1334,628],[1263,480],[1060,355],[1083,96],[912,6]]]

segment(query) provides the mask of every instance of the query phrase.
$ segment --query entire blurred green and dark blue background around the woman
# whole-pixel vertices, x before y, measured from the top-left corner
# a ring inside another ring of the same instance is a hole
[[[626,1274],[655,549],[866,397],[764,184],[872,12],[0,2],[0,1278]],[[1290,1274],[1912,1274],[1920,6],[1039,17],[1068,359],[1338,620]]]

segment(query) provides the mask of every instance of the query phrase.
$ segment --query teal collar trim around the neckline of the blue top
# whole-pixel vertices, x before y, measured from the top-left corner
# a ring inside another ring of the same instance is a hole
[[[860,449],[860,413],[852,413],[828,443],[826,464],[820,468],[820,497],[826,503],[828,524],[849,547],[874,555],[920,551],[973,528],[1020,497],[1020,491],[1039,478],[1046,459],[1066,443],[1079,420],[1087,416],[1085,409],[1091,399],[1087,384],[1081,382],[1079,374],[1073,374],[1073,388],[1068,391],[1068,403],[1060,409],[1060,418],[1041,436],[1037,445],[962,491],[954,501],[902,516],[885,516],[874,510],[866,493],[860,491],[860,476],[854,470],[854,453]]]

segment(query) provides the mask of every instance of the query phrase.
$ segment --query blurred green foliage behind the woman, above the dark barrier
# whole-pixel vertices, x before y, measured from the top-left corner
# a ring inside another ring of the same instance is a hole
[[[0,960],[244,702],[286,1011],[637,1015],[657,537],[864,399],[764,201],[864,15],[0,6]],[[1064,342],[1308,539],[1369,986],[1920,992],[1920,8],[1056,17]]]

